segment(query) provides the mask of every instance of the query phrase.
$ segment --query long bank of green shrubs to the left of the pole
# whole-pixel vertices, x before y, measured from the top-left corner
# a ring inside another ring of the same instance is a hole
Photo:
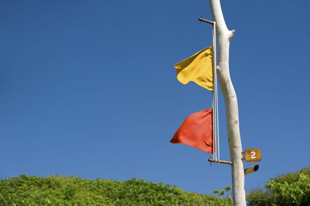
[[[222,191],[214,193],[224,196]],[[228,198],[229,197],[229,198]],[[163,183],[153,183],[132,178],[128,181],[87,180],[75,176],[20,175],[0,180],[1,206],[231,206],[227,198],[185,192]]]

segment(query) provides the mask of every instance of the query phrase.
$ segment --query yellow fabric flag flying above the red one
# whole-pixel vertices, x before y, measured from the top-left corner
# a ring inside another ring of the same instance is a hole
[[[193,81],[207,90],[213,90],[213,46],[176,63],[175,68],[177,79],[182,84]]]

